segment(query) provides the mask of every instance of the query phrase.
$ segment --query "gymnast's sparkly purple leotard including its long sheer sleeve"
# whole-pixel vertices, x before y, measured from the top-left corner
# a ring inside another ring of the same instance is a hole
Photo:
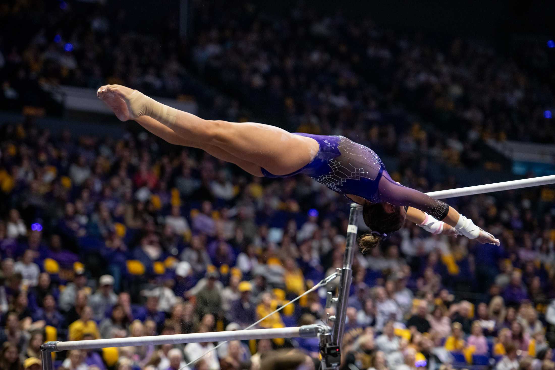
[[[449,206],[444,202],[393,181],[374,150],[345,136],[294,134],[318,142],[320,149],[314,159],[288,175],[277,176],[262,169],[264,176],[285,178],[305,174],[345,196],[352,194],[374,203],[389,202],[396,206],[415,207],[438,220],[447,216]]]

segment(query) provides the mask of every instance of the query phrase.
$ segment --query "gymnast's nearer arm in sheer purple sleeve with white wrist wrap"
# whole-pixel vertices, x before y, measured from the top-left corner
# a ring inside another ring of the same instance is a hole
[[[386,171],[380,179],[378,189],[381,201],[389,202],[395,206],[416,208],[437,220],[445,222],[447,225],[453,226],[458,234],[464,235],[468,239],[477,239],[481,243],[499,245],[498,239],[474,225],[471,219],[459,214],[453,207],[441,200],[433,199],[421,191],[396,183]]]

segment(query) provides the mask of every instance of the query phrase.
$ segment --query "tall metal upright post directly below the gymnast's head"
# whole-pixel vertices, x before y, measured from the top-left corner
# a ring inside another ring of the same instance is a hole
[[[341,279],[339,281],[339,292],[337,293],[337,312],[335,315],[334,328],[331,340],[341,348],[343,332],[345,331],[345,318],[347,310],[347,300],[349,300],[349,290],[352,278],[352,261],[355,258],[356,233],[358,231],[357,221],[362,206],[352,203],[349,213],[349,226],[347,226],[347,240],[345,255],[343,256],[343,267],[341,268]]]

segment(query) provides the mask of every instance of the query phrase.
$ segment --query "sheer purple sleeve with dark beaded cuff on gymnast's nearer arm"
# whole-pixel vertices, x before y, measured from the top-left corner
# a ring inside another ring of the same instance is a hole
[[[397,184],[386,171],[382,174],[378,191],[382,202],[390,202],[395,206],[415,207],[437,220],[445,219],[449,212],[449,205],[445,202],[433,199],[421,191]]]

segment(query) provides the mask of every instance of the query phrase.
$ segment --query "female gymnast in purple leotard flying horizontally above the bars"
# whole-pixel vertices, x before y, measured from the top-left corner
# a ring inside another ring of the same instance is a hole
[[[360,239],[362,251],[399,230],[405,219],[433,234],[460,234],[499,245],[493,235],[449,205],[393,181],[373,150],[344,136],[289,133],[260,123],[205,120],[122,85],[104,85],[97,95],[118,119],[133,119],[168,143],[203,149],[254,176],[305,174],[361,204],[364,222],[372,230]]]

